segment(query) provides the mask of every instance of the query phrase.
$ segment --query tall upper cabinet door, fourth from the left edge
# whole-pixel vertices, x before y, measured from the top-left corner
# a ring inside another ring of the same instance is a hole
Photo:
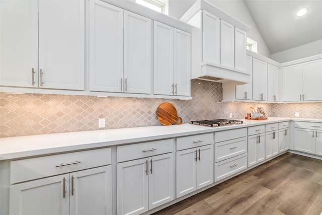
[[[151,93],[151,20],[124,11],[124,92]]]

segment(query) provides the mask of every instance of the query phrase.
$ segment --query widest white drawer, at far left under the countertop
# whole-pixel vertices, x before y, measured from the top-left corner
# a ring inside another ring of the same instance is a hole
[[[10,183],[111,164],[111,148],[12,161]]]

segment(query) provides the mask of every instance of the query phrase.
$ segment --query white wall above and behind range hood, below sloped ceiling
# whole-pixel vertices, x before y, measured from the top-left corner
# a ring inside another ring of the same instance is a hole
[[[195,2],[197,0],[169,0],[169,16],[180,19]],[[208,2],[249,25],[252,29],[247,33],[247,36],[257,41],[257,52],[266,57],[271,57],[271,53],[243,0],[208,0]]]

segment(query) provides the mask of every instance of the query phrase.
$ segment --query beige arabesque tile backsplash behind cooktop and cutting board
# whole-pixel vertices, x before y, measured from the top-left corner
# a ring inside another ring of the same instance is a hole
[[[97,130],[98,118],[106,128],[160,125],[157,107],[170,102],[184,123],[191,120],[243,118],[250,107],[264,107],[268,116],[322,119],[322,103],[221,102],[220,83],[191,81],[193,100],[66,96],[0,93],[0,137]]]

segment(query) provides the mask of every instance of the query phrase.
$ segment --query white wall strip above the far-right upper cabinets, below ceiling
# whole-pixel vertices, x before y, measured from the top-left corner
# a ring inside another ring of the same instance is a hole
[[[285,51],[277,52],[275,54],[271,54],[270,58],[277,62],[284,63],[317,54],[322,54],[322,39]]]

